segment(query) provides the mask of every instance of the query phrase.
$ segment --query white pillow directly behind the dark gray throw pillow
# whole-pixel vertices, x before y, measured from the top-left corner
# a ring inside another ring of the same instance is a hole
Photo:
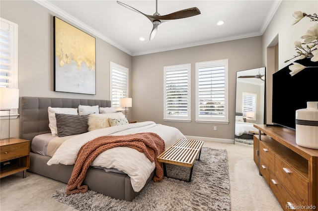
[[[56,127],[55,113],[78,115],[78,109],[71,108],[71,107],[50,107],[50,106],[48,107],[49,128],[53,136],[58,134],[58,129]]]

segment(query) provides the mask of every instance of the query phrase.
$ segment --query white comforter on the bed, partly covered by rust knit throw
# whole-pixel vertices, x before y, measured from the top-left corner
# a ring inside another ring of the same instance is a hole
[[[81,146],[94,138],[105,135],[118,136],[143,132],[157,133],[163,139],[165,149],[169,148],[179,139],[185,138],[178,129],[156,124],[152,121],[107,127],[83,133],[66,140],[47,164],[75,164]],[[128,147],[115,147],[106,150],[97,156],[91,165],[104,168],[116,168],[128,174],[132,187],[136,192],[145,186],[147,179],[156,167],[155,162],[151,162],[144,153],[140,153]]]

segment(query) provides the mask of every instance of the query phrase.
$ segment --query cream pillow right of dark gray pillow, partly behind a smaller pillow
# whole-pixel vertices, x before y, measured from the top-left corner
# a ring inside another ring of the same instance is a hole
[[[125,115],[122,112],[116,113],[92,113],[88,117],[88,131],[110,127],[108,118],[112,119],[123,119]]]

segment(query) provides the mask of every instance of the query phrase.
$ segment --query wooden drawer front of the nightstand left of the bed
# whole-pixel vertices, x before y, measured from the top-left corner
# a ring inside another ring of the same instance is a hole
[[[5,161],[13,158],[20,158],[29,155],[29,142],[11,144],[1,146],[0,148],[0,161]]]

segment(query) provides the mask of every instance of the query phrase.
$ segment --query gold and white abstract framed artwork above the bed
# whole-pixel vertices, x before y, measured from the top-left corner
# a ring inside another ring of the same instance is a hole
[[[54,91],[96,95],[96,39],[54,17]]]

